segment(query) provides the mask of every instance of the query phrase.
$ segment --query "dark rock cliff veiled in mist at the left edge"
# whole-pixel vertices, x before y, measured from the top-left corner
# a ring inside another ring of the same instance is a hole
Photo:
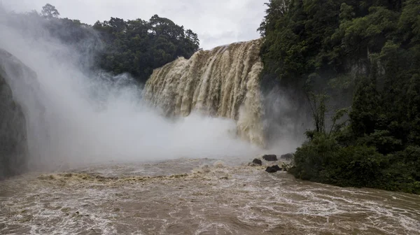
[[[43,119],[38,91],[36,73],[0,48],[0,179],[25,171],[29,153],[35,161],[41,155],[38,141],[46,133],[37,122]]]

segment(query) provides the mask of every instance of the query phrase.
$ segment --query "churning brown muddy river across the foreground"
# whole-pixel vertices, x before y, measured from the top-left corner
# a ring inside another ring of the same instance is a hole
[[[175,159],[0,182],[0,234],[420,234],[420,197]]]

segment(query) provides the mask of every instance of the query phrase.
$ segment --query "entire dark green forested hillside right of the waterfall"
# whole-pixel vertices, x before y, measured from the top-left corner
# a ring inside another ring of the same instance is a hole
[[[265,74],[307,94],[315,122],[290,172],[420,194],[420,0],[267,6],[259,29]],[[328,98],[336,101],[337,94],[348,95],[350,107],[330,115],[327,125]]]

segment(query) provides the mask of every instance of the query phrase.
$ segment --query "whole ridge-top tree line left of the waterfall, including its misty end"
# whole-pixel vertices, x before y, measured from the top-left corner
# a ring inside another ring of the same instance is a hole
[[[153,69],[177,57],[191,57],[200,45],[192,30],[158,15],[148,21],[111,17],[109,21],[98,21],[91,26],[80,20],[60,18],[59,11],[50,4],[46,4],[41,13],[8,14],[9,23],[19,24],[15,25],[18,29],[42,36],[44,31],[36,31],[41,24],[49,36],[73,46],[79,52],[80,65],[88,64],[89,69],[93,66],[115,75],[130,73],[142,83]]]

